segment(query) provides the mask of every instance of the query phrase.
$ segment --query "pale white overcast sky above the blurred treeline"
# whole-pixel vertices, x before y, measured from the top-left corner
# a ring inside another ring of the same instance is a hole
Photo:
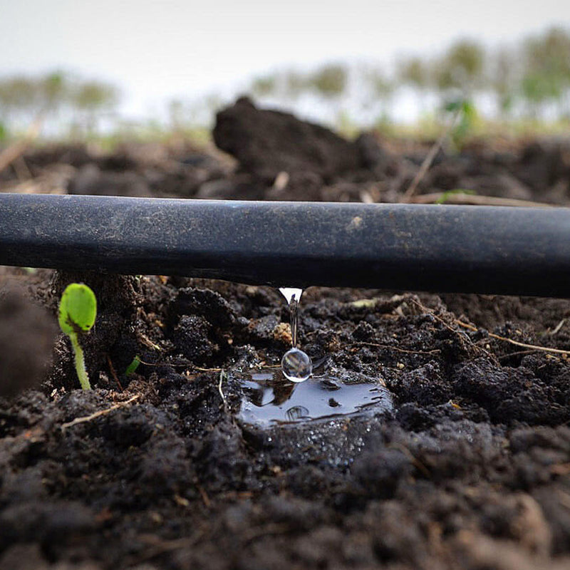
[[[144,113],[274,68],[389,62],[554,24],[570,26],[569,0],[0,0],[0,75],[76,71]]]

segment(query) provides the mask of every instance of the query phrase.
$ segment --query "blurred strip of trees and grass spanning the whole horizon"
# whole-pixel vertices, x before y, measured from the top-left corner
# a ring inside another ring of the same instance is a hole
[[[375,127],[388,135],[432,137],[451,121],[451,139],[461,147],[470,135],[493,130],[520,135],[548,125],[562,131],[570,123],[570,30],[550,28],[494,48],[462,38],[440,53],[410,54],[392,66],[328,62],[283,69],[254,77],[244,90],[261,105],[347,134]],[[402,100],[415,109],[413,127],[398,124]],[[214,113],[230,100],[215,93],[177,98],[161,116],[143,121],[120,118],[119,102],[114,86],[63,71],[0,77],[0,142],[35,120],[43,122],[44,133],[53,130],[60,138],[205,138]]]

